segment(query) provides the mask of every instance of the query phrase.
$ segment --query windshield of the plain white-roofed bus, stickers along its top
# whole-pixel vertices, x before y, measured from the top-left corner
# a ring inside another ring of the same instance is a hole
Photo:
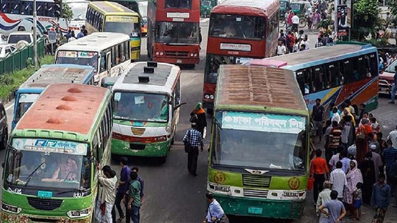
[[[58,51],[56,64],[77,64],[94,67],[98,70],[98,52],[87,51]]]

